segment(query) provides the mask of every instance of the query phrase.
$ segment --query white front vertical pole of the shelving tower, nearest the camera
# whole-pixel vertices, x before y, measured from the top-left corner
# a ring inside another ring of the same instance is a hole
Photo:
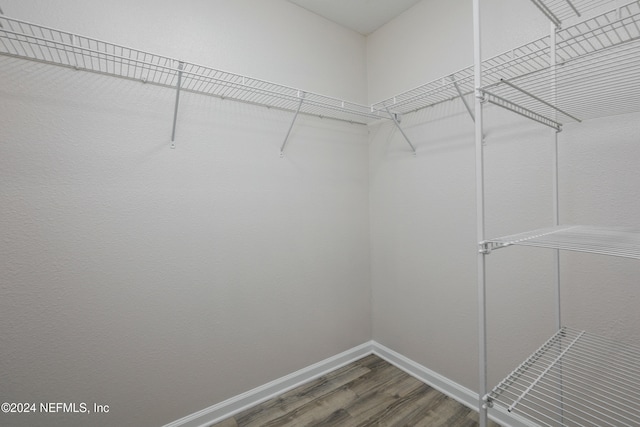
[[[476,144],[476,226],[477,242],[484,242],[484,151],[482,145],[482,53],[480,41],[480,0],[473,0],[473,46],[474,46],[474,81],[475,81],[475,144]],[[480,246],[479,246],[480,247]],[[485,256],[478,250],[478,374],[480,388],[478,390],[478,411],[480,427],[487,426],[488,409],[484,404],[487,394],[487,304]]]

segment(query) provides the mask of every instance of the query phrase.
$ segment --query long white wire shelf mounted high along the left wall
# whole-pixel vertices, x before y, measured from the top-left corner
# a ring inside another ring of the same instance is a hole
[[[223,99],[352,123],[381,117],[371,108],[166,56],[0,16],[0,54]]]

